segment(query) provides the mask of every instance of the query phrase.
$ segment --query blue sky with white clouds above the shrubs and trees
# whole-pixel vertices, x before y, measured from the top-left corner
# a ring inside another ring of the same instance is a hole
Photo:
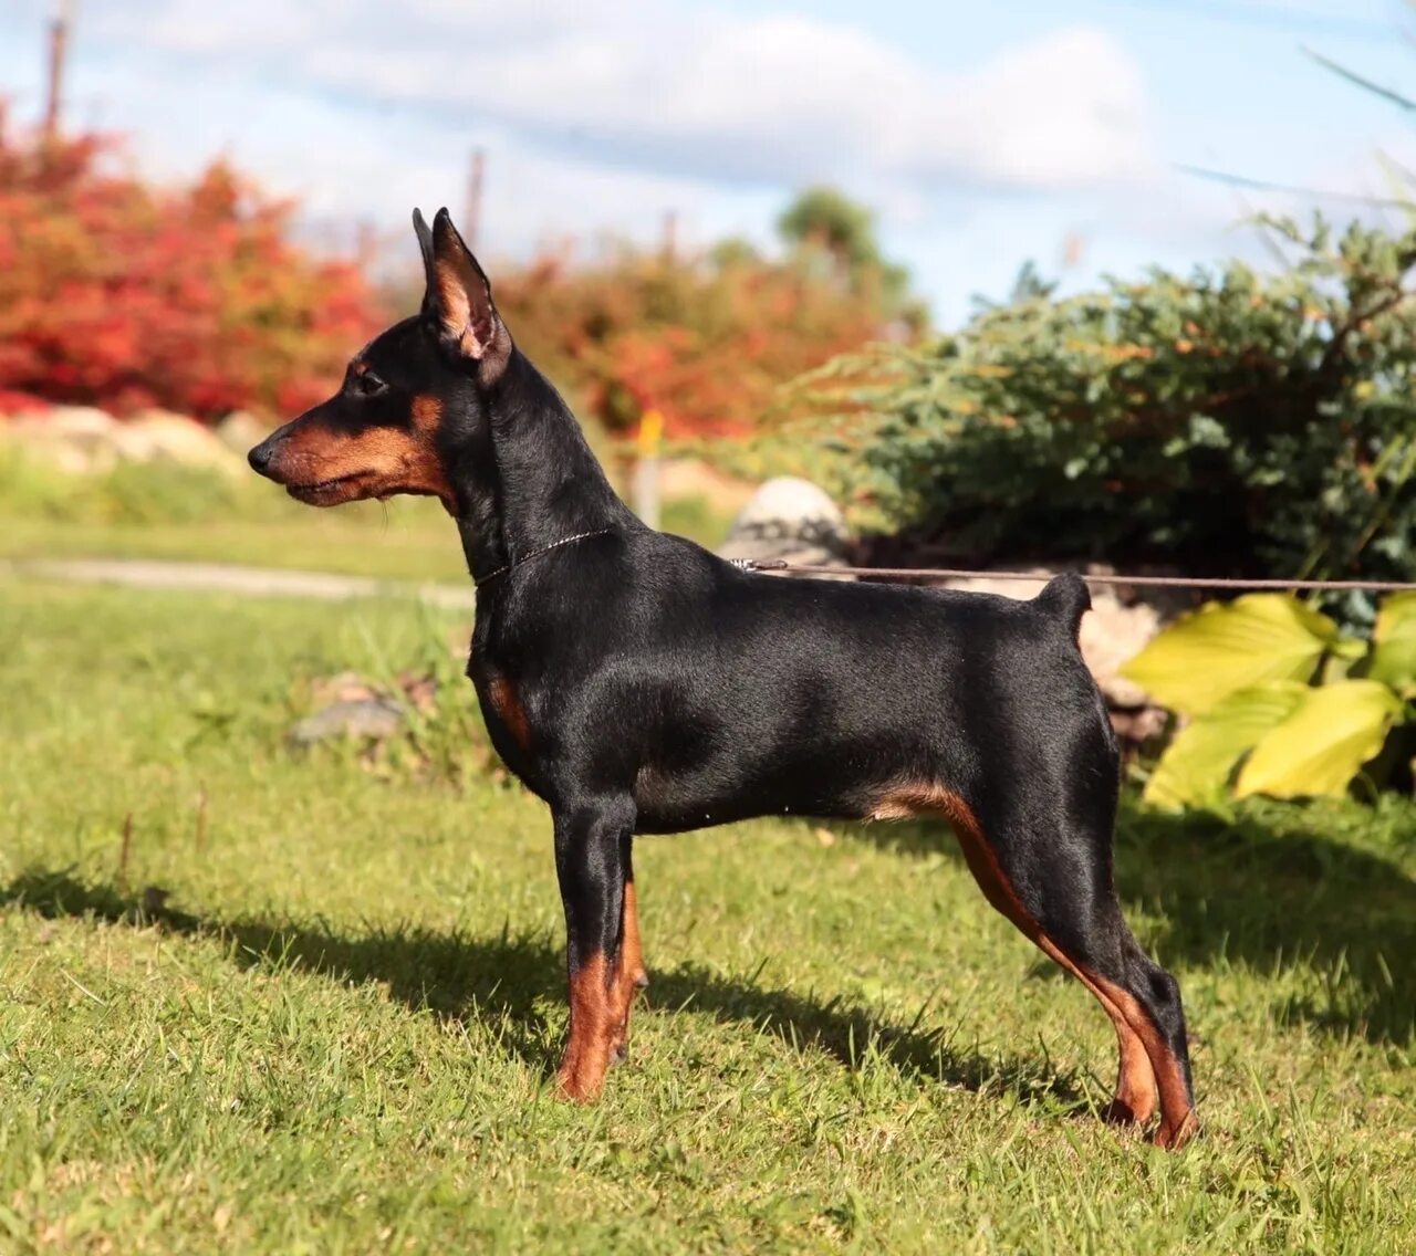
[[[61,0],[0,4],[0,95],[40,110]],[[1236,191],[1212,167],[1388,195],[1416,116],[1317,65],[1416,93],[1403,0],[74,0],[67,113],[127,136],[160,180],[231,157],[303,204],[310,239],[374,225],[416,272],[409,209],[466,204],[479,252],[609,236],[770,246],[793,192],[877,214],[936,321],[1034,260],[1066,290],[1153,264],[1262,259],[1259,209],[1355,202]]]

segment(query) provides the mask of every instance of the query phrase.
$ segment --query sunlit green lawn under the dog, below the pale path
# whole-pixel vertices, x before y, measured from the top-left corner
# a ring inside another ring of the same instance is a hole
[[[1184,1153],[1095,1119],[1104,1016],[920,826],[640,842],[649,1000],[578,1109],[544,808],[283,740],[457,627],[0,581],[0,1252],[1409,1243],[1410,803],[1127,810]]]

